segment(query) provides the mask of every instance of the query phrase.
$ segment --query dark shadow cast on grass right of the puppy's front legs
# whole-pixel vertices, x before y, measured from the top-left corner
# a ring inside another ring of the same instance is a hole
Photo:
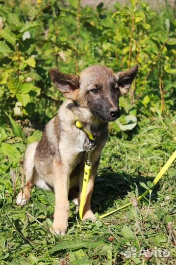
[[[107,171],[107,169],[106,169]],[[143,176],[134,176],[127,175],[126,173],[115,173],[115,172],[105,172],[102,170],[102,173],[99,177],[96,178],[94,191],[92,195],[92,210],[93,212],[98,212],[99,214],[105,213],[109,208],[112,208],[111,211],[115,210],[115,202],[117,205],[123,206],[126,203],[130,202],[130,196],[133,194],[135,197],[136,185],[138,187],[139,196],[143,194],[145,189],[141,187],[140,182],[143,182],[147,185],[148,181],[153,181],[154,178],[143,177]],[[157,190],[160,185],[157,184],[151,193],[152,201],[157,198]],[[129,194],[130,193],[130,194]],[[130,195],[129,200],[125,203],[123,202],[127,195]],[[149,198],[149,195],[146,196]]]

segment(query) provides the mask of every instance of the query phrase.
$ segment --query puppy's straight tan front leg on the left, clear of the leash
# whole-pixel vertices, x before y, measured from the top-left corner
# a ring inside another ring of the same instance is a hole
[[[57,159],[53,161],[55,210],[53,231],[56,234],[65,235],[68,228],[69,219],[69,166],[63,165]]]

